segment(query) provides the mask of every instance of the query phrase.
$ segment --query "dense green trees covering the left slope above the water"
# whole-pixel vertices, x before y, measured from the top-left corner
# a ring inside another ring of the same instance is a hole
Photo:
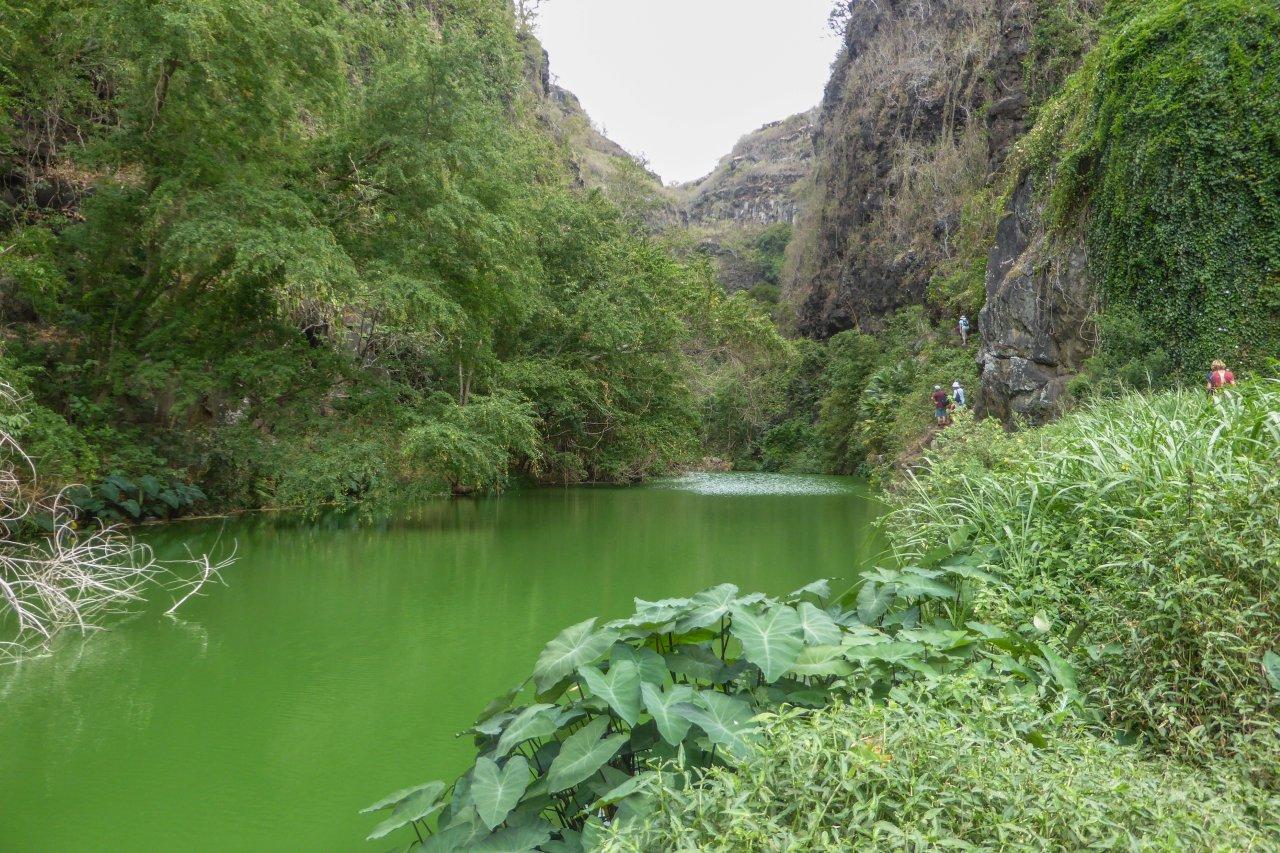
[[[753,309],[575,186],[502,0],[0,31],[0,370],[54,482],[315,505],[696,456],[695,359]]]

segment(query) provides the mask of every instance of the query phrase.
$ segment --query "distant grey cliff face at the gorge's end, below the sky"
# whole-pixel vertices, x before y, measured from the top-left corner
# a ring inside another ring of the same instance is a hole
[[[797,184],[813,163],[817,110],[748,133],[704,178],[676,190],[686,224],[794,224]]]

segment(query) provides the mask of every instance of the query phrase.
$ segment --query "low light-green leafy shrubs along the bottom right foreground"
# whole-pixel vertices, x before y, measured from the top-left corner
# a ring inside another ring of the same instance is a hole
[[[1257,789],[1215,784],[975,679],[762,719],[742,766],[657,788],[607,850],[1248,849]],[[1270,820],[1270,822],[1267,822]]]

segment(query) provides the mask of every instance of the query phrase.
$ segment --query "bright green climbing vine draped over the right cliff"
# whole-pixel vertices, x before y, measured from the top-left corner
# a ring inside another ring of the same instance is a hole
[[[1115,3],[1102,29],[1024,152],[1051,222],[1085,223],[1106,310],[1140,314],[1172,375],[1260,365],[1280,347],[1280,5]]]

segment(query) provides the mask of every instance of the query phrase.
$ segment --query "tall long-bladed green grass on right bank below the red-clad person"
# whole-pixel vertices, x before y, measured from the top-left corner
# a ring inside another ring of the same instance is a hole
[[[1004,583],[979,617],[1048,630],[1107,720],[1280,786],[1280,382],[1132,394],[1039,430],[948,430],[895,496],[913,560],[957,529]]]

